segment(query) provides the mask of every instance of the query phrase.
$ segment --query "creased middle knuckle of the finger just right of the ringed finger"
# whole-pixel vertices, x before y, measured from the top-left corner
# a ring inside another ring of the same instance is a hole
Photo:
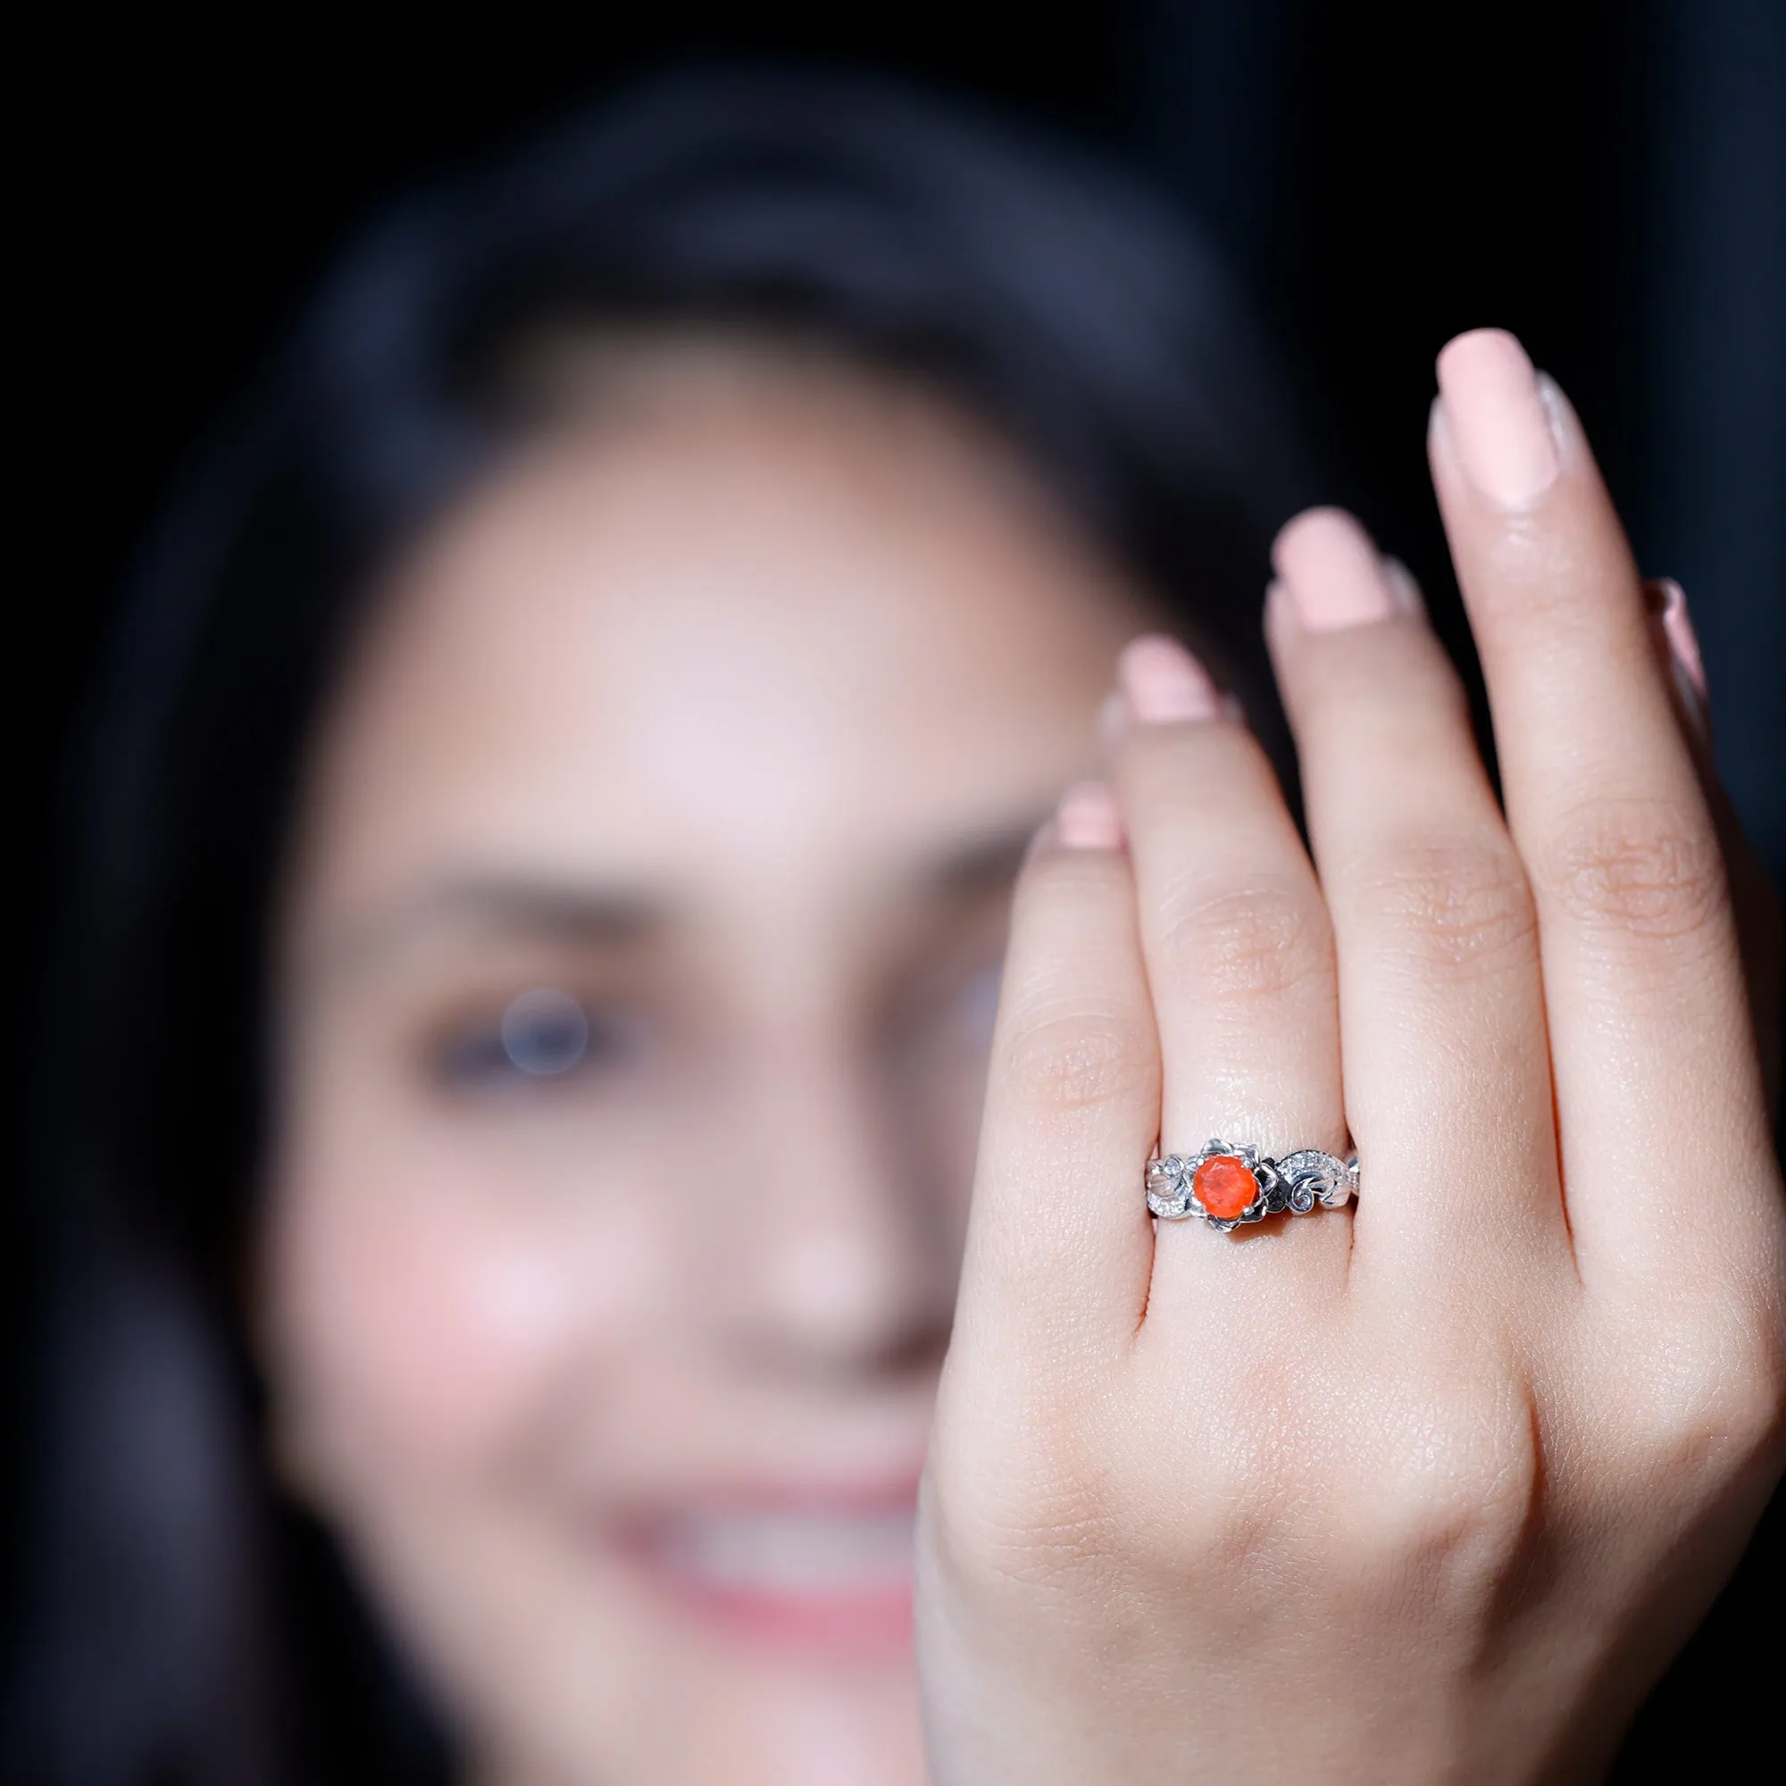
[[[1382,852],[1363,895],[1422,968],[1473,979],[1536,952],[1531,888],[1509,847],[1422,843]]]

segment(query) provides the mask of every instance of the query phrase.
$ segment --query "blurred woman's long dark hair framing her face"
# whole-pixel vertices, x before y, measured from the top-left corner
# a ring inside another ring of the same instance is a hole
[[[379,218],[150,541],[77,754],[45,979],[13,1779],[439,1777],[271,1484],[241,1268],[305,734],[393,550],[511,441],[532,330],[795,334],[986,418],[1231,673],[1311,491],[1209,254],[1056,143],[859,79],[661,80]],[[1264,700],[1261,700],[1264,705]]]

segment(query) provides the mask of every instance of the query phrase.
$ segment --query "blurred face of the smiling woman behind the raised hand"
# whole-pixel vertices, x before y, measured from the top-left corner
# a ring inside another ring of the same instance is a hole
[[[1143,616],[922,395],[629,393],[421,543],[318,741],[279,1447],[482,1777],[918,1781],[1007,882]]]

